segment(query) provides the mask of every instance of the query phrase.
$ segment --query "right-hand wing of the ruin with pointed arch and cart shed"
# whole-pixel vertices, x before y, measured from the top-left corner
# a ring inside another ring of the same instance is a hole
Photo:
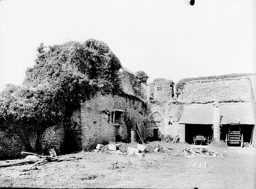
[[[228,128],[239,125],[244,142],[255,145],[256,76],[191,80],[174,97],[173,82],[155,79],[147,85],[148,125],[153,135],[179,135],[192,144],[193,136],[225,140]]]

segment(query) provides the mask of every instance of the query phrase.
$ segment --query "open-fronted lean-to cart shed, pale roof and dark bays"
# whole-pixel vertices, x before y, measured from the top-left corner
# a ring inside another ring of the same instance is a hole
[[[243,145],[251,145],[255,127],[252,105],[250,103],[226,103],[219,105],[219,129],[217,131],[220,140],[227,141],[229,131],[233,133],[238,131],[238,136],[240,135],[239,140],[243,140]],[[213,110],[213,104],[190,104],[184,106],[179,123],[185,125],[185,142],[193,144],[194,137],[197,135],[209,137],[209,140],[212,139],[214,136]],[[235,144],[232,141],[233,137],[229,140],[231,142],[228,145]]]

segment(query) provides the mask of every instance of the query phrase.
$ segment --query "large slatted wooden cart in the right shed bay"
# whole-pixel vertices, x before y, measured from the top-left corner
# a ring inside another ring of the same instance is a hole
[[[243,134],[241,133],[240,125],[229,126],[228,133],[226,134],[226,144],[238,144],[241,147],[244,146]]]

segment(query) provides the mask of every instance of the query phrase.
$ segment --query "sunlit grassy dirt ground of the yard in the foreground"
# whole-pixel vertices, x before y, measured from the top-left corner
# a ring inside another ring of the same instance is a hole
[[[47,162],[38,166],[40,170],[27,175],[20,175],[21,170],[31,165],[1,168],[0,185],[19,188],[256,188],[255,148],[165,144],[167,146],[173,150],[146,153],[144,158],[80,152],[72,155],[83,159]],[[224,156],[182,156],[182,150],[188,147],[207,148]],[[192,160],[206,161],[206,169],[188,167]]]

